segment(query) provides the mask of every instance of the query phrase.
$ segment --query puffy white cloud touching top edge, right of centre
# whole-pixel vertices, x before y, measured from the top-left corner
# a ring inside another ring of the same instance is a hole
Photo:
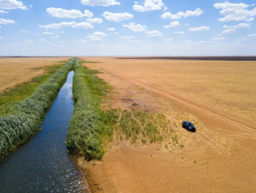
[[[162,0],[144,0],[143,5],[135,1],[133,5],[133,10],[137,12],[150,12],[161,10],[162,8],[164,8],[164,11],[167,10],[167,7],[162,3]]]

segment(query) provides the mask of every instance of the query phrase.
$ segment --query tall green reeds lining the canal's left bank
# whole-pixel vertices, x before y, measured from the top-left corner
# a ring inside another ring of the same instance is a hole
[[[41,119],[50,109],[76,62],[77,58],[72,58],[45,83],[38,86],[31,96],[23,101],[16,101],[5,109],[5,117],[0,117],[0,162],[41,129]],[[39,77],[35,81],[40,79]]]

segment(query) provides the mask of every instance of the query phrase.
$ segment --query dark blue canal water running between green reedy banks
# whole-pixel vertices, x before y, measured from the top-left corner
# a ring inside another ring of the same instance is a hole
[[[0,192],[81,192],[87,183],[65,145],[74,110],[70,72],[41,124],[42,130],[0,163]],[[47,91],[45,91],[47,92]]]

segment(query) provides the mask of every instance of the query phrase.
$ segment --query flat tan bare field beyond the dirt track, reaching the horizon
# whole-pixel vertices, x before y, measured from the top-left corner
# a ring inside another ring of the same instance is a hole
[[[256,62],[84,57],[141,83],[256,120]]]

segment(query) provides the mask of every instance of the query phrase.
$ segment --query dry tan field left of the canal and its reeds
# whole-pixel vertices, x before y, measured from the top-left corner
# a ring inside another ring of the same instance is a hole
[[[32,80],[42,75],[44,66],[51,66],[69,57],[0,57],[0,92],[19,83]]]

